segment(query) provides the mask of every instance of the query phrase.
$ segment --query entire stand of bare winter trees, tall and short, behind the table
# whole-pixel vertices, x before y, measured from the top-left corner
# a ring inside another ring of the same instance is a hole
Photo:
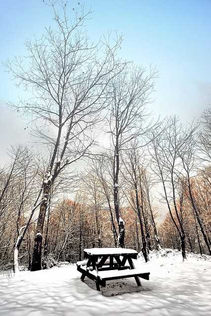
[[[117,32],[92,42],[84,6],[69,19],[49,3],[54,27],[4,63],[36,146],[9,147],[0,166],[0,270],[91,247],[211,255],[211,107],[189,122],[152,114],[157,69],[120,57]]]

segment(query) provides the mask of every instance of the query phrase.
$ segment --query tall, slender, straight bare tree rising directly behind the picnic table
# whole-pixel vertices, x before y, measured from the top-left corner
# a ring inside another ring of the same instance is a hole
[[[150,102],[153,80],[157,77],[155,69],[126,65],[125,70],[112,80],[111,106],[107,118],[112,140],[113,155],[113,194],[116,219],[119,226],[119,245],[124,247],[125,224],[121,218],[119,200],[119,172],[121,152],[127,143],[145,132],[145,106]]]

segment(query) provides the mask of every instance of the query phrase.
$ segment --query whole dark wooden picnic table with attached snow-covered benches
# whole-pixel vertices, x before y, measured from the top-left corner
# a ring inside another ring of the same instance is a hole
[[[105,287],[107,280],[134,277],[137,286],[141,286],[139,277],[149,280],[149,272],[135,269],[132,259],[137,259],[137,251],[128,248],[89,248],[84,249],[84,258],[87,260],[77,262],[77,270],[82,273],[81,279],[89,277],[96,283]],[[128,262],[129,266],[126,266]]]

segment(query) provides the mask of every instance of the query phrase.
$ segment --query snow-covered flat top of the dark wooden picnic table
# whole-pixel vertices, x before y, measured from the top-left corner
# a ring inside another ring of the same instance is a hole
[[[103,255],[131,255],[137,254],[138,252],[134,249],[129,248],[115,248],[115,247],[108,247],[108,248],[86,248],[84,252],[88,255],[92,256],[103,256]]]

